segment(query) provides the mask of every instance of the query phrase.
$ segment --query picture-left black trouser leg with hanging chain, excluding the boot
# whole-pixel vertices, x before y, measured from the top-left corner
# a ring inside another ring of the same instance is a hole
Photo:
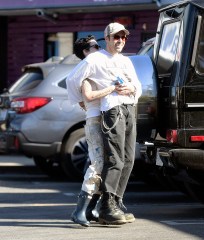
[[[114,126],[115,123],[117,124]],[[103,192],[114,195],[124,167],[125,129],[125,116],[121,114],[119,106],[103,113],[104,166],[101,173],[101,187]]]

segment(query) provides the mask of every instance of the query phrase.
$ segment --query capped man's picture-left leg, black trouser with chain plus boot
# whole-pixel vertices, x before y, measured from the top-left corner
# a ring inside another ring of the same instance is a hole
[[[124,167],[125,116],[120,107],[105,112],[102,117],[104,141],[104,167],[102,170],[102,201],[99,222],[124,224],[124,213],[116,205],[115,194]]]

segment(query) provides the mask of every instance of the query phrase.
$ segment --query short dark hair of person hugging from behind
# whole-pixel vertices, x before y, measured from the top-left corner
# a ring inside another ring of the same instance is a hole
[[[93,39],[95,40],[95,37],[93,35],[88,35],[85,38],[80,38],[80,39],[76,40],[76,42],[74,43],[74,53],[78,58],[80,58],[80,59],[85,58],[83,50],[89,49],[88,42]]]

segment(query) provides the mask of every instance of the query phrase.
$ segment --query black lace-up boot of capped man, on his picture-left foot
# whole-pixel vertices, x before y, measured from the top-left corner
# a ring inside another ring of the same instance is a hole
[[[114,225],[126,223],[124,214],[117,209],[115,197],[112,193],[103,193],[99,211],[99,223]]]

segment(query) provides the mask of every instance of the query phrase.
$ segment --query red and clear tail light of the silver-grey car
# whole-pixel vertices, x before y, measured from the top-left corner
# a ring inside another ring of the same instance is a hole
[[[11,108],[17,113],[30,113],[45,106],[52,98],[47,97],[22,97],[11,101]]]

